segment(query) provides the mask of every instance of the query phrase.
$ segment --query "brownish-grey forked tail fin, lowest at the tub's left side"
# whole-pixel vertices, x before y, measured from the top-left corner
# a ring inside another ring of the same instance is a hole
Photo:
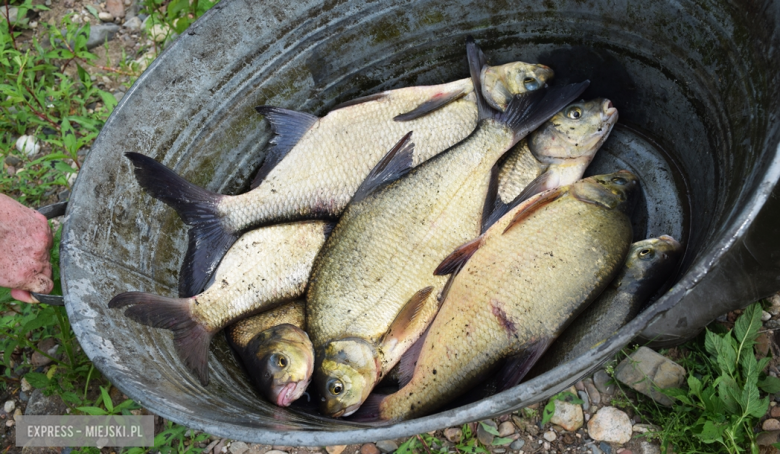
[[[173,331],[173,345],[200,383],[209,383],[208,355],[213,333],[192,317],[191,298],[167,298],[144,292],[120,293],[108,303],[110,308],[131,306],[125,315],[143,325]]]

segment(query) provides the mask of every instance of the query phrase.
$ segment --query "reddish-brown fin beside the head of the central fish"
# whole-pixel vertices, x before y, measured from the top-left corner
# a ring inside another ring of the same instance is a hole
[[[379,345],[384,357],[382,374],[392,369],[404,352],[423,335],[438,311],[439,302],[432,286],[425,287],[409,299]]]

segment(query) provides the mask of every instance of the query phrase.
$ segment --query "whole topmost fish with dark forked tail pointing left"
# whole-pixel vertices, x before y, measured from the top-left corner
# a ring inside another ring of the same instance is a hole
[[[513,62],[493,67],[491,74],[495,77],[484,90],[500,91],[495,96],[500,100],[514,94],[510,90],[525,92],[526,79],[533,80],[534,87],[544,86],[552,70]],[[259,110],[277,136],[258,173],[261,181],[236,196],[205,191],[151,158],[127,153],[139,184],[173,207],[190,227],[179,296],[204,288],[241,233],[261,225],[341,214],[368,172],[406,132],[415,131],[414,165],[460,142],[477,125],[475,99],[471,79],[462,79],[371,95],[322,118],[263,106]],[[410,121],[394,119],[421,107],[427,114]]]

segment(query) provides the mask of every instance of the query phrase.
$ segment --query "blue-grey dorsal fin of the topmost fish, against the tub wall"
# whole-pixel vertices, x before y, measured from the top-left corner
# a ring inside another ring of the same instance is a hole
[[[265,155],[265,161],[260,170],[257,171],[255,179],[252,180],[252,189],[262,183],[271,170],[279,164],[279,161],[287,156],[287,153],[301,140],[301,137],[319,120],[319,117],[312,114],[282,109],[281,107],[257,106],[255,110],[271,123],[271,129],[276,136],[271,139],[271,146]]]

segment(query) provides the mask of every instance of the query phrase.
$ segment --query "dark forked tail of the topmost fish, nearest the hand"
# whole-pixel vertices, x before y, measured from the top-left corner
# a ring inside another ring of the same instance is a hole
[[[154,159],[140,153],[125,156],[135,167],[138,184],[152,197],[164,202],[190,226],[189,245],[179,277],[179,296],[200,293],[219,261],[239,233],[225,228],[218,211],[225,196],[200,188]]]

